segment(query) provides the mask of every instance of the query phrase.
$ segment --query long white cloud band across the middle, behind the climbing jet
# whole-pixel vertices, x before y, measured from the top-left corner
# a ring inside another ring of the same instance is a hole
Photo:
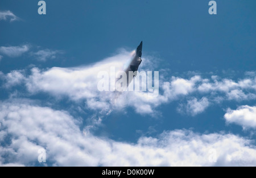
[[[92,65],[76,68],[32,68],[28,76],[24,75],[24,72],[12,71],[6,74],[6,77],[10,84],[19,84],[16,80],[23,82],[31,94],[44,92],[54,97],[65,96],[75,102],[85,101],[88,109],[93,110],[133,107],[137,113],[152,114],[157,111],[158,106],[178,101],[177,110],[180,113],[195,116],[203,113],[209,106],[224,101],[239,103],[256,100],[256,76],[252,72],[237,81],[214,75],[204,77],[203,74],[182,78],[160,72],[158,97],[148,97],[148,91],[122,94],[98,91],[97,84],[101,80],[98,78],[98,73],[105,71],[110,76],[111,67],[115,67],[116,70],[122,69],[130,57],[130,52],[122,50],[117,55]],[[148,59],[150,56],[143,58],[144,65],[140,67],[141,71],[153,66]],[[18,73],[20,73],[18,78],[10,78],[17,76]],[[135,80],[139,80],[139,77],[135,77]]]

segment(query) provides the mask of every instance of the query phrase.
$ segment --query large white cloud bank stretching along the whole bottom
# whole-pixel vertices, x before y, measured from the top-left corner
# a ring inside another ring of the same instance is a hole
[[[85,134],[79,125],[65,111],[28,101],[2,102],[0,143],[6,137],[11,141],[0,146],[0,164],[35,165],[39,148],[45,148],[46,164],[57,166],[256,165],[255,146],[232,134],[174,130],[130,144]],[[216,163],[209,161],[210,150],[216,151]]]

